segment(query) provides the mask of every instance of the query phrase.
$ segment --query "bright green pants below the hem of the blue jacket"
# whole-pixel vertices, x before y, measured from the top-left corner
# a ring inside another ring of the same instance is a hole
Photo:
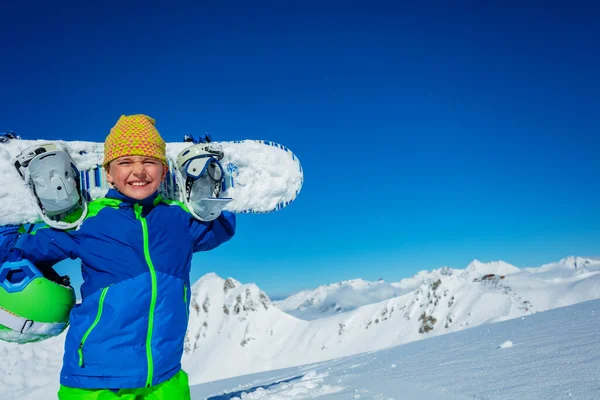
[[[60,386],[59,400],[190,400],[190,384],[183,370],[160,385],[142,389],[76,389]]]

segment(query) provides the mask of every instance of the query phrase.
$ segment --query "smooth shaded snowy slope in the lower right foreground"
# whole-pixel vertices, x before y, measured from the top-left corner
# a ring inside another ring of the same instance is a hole
[[[194,400],[600,399],[600,301],[192,387]]]

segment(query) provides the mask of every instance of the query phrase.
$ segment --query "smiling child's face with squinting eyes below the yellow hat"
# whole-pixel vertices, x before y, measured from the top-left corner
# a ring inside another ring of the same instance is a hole
[[[158,190],[168,170],[154,157],[125,156],[110,162],[106,178],[125,196],[144,200]]]

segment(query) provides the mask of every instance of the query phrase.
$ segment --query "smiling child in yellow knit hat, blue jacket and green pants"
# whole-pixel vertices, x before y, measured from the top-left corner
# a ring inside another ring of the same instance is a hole
[[[114,189],[89,204],[77,230],[39,229],[16,244],[41,268],[81,259],[82,302],[69,318],[59,399],[190,398],[181,357],[192,254],[229,240],[235,215],[202,222],[161,199],[165,148],[152,118],[121,116],[104,148]]]

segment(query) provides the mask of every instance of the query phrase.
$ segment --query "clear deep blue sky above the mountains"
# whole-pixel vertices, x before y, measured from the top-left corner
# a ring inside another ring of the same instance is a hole
[[[0,130],[102,141],[145,113],[168,141],[268,139],[302,161],[298,200],[240,215],[193,279],[279,297],[600,255],[597,5],[91,3],[3,7]]]

